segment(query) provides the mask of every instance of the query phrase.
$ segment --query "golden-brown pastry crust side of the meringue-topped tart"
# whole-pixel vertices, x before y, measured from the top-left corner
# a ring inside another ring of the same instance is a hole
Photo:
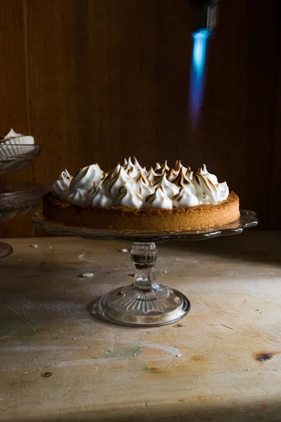
[[[124,207],[80,207],[55,198],[43,197],[43,215],[61,223],[89,226],[93,229],[122,231],[184,231],[223,226],[240,217],[239,198],[230,192],[218,205],[166,209]]]

